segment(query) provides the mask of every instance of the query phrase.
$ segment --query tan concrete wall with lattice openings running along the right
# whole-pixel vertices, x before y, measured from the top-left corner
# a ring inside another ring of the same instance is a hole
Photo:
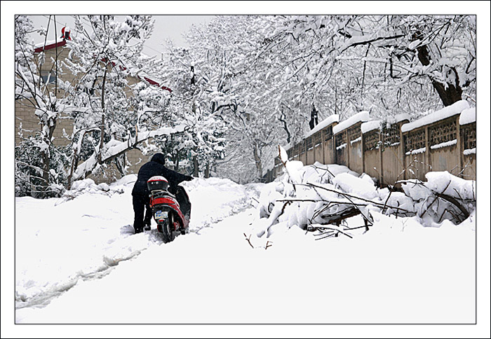
[[[323,147],[303,154],[292,148],[290,155],[305,165],[311,165],[314,160],[346,165],[355,172],[365,172],[377,179],[381,186],[394,185],[402,179],[426,181],[425,174],[430,171],[448,171],[464,179],[476,180],[475,122],[459,125],[457,114],[402,132],[401,127],[408,122],[402,120],[365,134],[361,133],[361,123],[330,134],[327,131],[329,128],[332,131],[335,125],[332,124],[321,130]],[[342,146],[344,144],[346,146]],[[305,150],[305,144],[302,145],[303,148],[298,149]]]

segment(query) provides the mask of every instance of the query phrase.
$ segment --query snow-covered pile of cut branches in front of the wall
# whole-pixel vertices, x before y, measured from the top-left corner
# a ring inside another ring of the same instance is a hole
[[[318,162],[304,166],[288,161],[283,152],[280,149],[285,173],[264,186],[260,195],[258,237],[269,237],[282,226],[299,226],[323,237],[351,237],[354,228],[347,227],[346,220],[361,216],[364,224],[356,228],[369,230],[374,223],[372,212],[415,216],[424,226],[438,227],[444,219],[462,223],[476,208],[476,181],[448,172],[429,172],[426,182],[398,181],[398,189],[377,188],[368,174]]]

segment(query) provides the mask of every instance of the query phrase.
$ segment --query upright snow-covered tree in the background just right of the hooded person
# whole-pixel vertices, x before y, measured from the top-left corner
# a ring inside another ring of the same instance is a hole
[[[180,153],[190,153],[194,176],[224,158],[227,121],[224,112],[236,108],[230,91],[229,55],[215,49],[197,27],[187,35],[189,48],[177,48],[168,42],[169,58],[162,77],[173,88],[170,107],[189,125],[179,146]],[[200,36],[200,39],[196,39]]]

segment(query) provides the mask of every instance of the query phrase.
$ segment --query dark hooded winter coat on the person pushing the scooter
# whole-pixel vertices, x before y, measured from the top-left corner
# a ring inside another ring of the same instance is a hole
[[[163,164],[166,161],[166,157],[162,153],[156,153],[152,160],[144,164],[140,167],[140,171],[138,171],[138,179],[135,182],[135,186],[133,186],[132,195],[149,195],[149,191],[147,188],[147,180],[154,177],[155,175],[161,175],[166,178],[169,182],[168,191],[170,193],[175,194],[177,191],[177,185],[182,181],[190,181],[193,177],[189,175],[180,174],[173,170],[169,170]]]

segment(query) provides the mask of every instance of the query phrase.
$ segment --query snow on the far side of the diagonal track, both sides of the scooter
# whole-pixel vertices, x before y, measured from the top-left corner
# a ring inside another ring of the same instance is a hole
[[[163,244],[155,225],[148,233],[128,233],[134,181],[127,176],[109,187],[83,183],[72,200],[16,198],[16,309],[46,306],[76,284],[105,277],[121,261]],[[250,207],[255,194],[254,186],[246,191],[220,179],[184,185],[193,205],[191,235]]]

